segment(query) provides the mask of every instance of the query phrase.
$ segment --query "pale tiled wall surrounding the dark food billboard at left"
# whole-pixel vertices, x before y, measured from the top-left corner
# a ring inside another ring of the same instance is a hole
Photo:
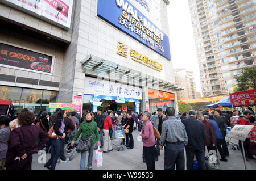
[[[0,28],[0,43],[12,45],[15,47],[28,49],[34,52],[47,54],[54,58],[52,75],[34,73],[30,71],[18,70],[9,68],[9,66],[0,66],[0,74],[14,75],[18,77],[26,77],[39,79],[44,81],[60,82],[61,70],[63,66],[64,49],[52,44],[45,43],[31,37],[21,35],[19,33],[8,32],[4,28]],[[18,87],[31,87],[35,89],[48,89],[59,90],[56,87],[30,85],[24,83],[14,83],[0,81],[0,85],[18,86]]]

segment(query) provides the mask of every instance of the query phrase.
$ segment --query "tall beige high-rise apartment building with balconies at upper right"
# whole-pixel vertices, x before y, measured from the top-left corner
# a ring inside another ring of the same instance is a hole
[[[188,0],[203,96],[227,94],[255,67],[255,0]]]

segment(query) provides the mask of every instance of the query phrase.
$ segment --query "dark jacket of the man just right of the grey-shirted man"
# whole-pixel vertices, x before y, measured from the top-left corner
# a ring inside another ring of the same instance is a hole
[[[204,123],[197,120],[194,116],[190,116],[181,122],[185,125],[188,136],[186,148],[204,150],[204,139],[207,137]]]

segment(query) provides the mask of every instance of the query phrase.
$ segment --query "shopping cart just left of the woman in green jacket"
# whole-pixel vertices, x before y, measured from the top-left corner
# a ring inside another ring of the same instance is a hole
[[[77,153],[76,146],[77,142],[80,140],[80,137],[75,142],[74,146],[71,146],[71,142],[73,140],[73,137],[75,137],[76,131],[68,132],[67,134],[67,144],[64,146],[64,153],[69,156],[69,160],[71,161],[74,158],[74,155]]]

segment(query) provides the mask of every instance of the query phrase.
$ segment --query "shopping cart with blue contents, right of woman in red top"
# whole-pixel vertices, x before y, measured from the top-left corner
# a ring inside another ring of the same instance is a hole
[[[125,150],[125,146],[120,143],[125,138],[125,133],[122,127],[122,124],[112,124],[113,125],[113,134],[112,134],[112,145],[117,146],[117,151]]]

